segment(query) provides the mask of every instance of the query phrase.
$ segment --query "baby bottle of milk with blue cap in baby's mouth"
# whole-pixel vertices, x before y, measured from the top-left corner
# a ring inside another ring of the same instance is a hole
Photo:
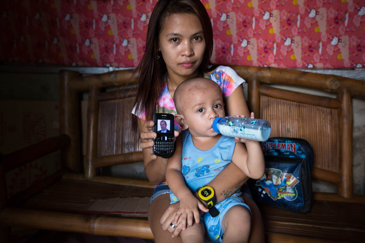
[[[228,137],[266,141],[270,137],[270,123],[264,119],[242,117],[217,117],[213,121],[213,130]]]

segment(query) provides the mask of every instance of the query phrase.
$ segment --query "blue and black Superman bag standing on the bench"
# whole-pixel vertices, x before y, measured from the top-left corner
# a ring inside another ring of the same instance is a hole
[[[304,139],[273,137],[261,142],[265,174],[249,180],[257,203],[296,213],[310,211],[313,201],[311,169],[313,148]]]

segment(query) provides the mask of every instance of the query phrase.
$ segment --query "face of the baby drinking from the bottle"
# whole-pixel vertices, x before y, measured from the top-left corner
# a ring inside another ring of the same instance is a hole
[[[189,132],[195,137],[212,137],[218,133],[212,129],[216,117],[224,117],[222,90],[214,83],[196,86],[185,94],[184,117]]]

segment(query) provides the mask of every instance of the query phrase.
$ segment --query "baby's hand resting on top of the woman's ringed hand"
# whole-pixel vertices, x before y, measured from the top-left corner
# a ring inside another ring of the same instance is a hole
[[[199,209],[203,212],[208,212],[209,209],[205,208],[204,205],[197,199],[193,194],[188,193],[180,199],[180,208],[176,212],[174,224],[177,224],[179,218],[181,217],[181,226],[183,230],[188,226],[193,226],[193,219],[199,224],[200,213]]]

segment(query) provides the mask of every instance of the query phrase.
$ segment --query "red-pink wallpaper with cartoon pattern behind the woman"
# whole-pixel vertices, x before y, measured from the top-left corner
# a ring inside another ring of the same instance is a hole
[[[156,0],[5,0],[0,61],[136,66]],[[362,0],[202,0],[212,62],[275,67],[365,66]]]

